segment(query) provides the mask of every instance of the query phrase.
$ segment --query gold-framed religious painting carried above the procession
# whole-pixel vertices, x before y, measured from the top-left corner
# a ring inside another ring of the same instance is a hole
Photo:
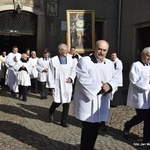
[[[95,45],[94,10],[67,10],[67,45],[80,54],[93,51]]]

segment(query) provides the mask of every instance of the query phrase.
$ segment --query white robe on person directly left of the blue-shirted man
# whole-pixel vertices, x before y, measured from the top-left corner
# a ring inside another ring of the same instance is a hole
[[[38,70],[38,78],[37,80],[40,82],[46,82],[47,81],[47,72],[43,72],[44,69],[49,68],[49,62],[51,58],[47,58],[45,60],[43,57],[39,58],[37,61],[37,70]]]

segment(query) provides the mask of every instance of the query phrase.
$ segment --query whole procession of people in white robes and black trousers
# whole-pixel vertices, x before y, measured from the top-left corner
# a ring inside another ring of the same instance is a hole
[[[26,50],[20,54],[14,46],[12,52],[0,56],[1,85],[7,85],[11,94],[27,101],[29,91],[47,99],[51,89],[53,102],[49,108],[49,119],[55,122],[55,110],[62,104],[60,124],[68,127],[69,104],[73,100],[73,114],[81,120],[81,150],[93,150],[102,126],[109,120],[110,101],[123,86],[123,64],[117,53],[106,58],[109,43],[96,42],[93,53],[81,57],[74,46],[68,50],[66,44],[58,45],[58,55],[50,57],[48,50],[38,58],[36,51]],[[141,60],[134,62],[129,73],[130,85],[127,105],[135,108],[137,115],[124,125],[123,135],[129,138],[134,125],[144,121],[143,141],[150,142],[150,47],[141,52]]]

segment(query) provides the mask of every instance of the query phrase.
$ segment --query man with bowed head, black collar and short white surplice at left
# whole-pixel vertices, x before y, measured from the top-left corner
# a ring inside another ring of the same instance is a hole
[[[28,61],[28,55],[23,53],[21,59],[14,65],[17,71],[17,84],[19,86],[19,99],[27,101],[27,88],[31,85],[30,74],[32,67]]]

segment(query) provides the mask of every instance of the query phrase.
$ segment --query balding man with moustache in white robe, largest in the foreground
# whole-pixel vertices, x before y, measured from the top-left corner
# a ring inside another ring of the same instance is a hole
[[[93,150],[101,121],[108,121],[110,99],[119,82],[111,60],[106,59],[109,44],[96,42],[94,53],[80,58],[74,91],[73,112],[82,121],[81,150]]]

